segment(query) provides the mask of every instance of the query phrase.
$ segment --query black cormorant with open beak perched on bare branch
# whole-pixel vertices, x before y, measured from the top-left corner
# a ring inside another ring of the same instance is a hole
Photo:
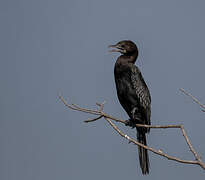
[[[136,127],[135,124],[150,125],[151,96],[139,68],[135,66],[138,57],[137,46],[132,41],[124,40],[109,47],[114,48],[110,52],[122,54],[115,63],[114,75],[118,99],[130,117],[127,125],[132,127]],[[138,142],[147,145],[146,133],[149,132],[149,128],[136,129]],[[148,174],[148,152],[138,146],[138,153],[142,174]]]

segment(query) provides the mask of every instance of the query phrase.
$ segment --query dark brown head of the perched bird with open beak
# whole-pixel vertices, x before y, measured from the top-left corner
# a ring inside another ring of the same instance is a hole
[[[114,49],[111,49],[109,52],[120,52],[121,54],[124,54],[124,55],[129,55],[129,54],[138,52],[136,44],[130,40],[120,41],[117,44],[110,45],[108,47],[114,48]]]

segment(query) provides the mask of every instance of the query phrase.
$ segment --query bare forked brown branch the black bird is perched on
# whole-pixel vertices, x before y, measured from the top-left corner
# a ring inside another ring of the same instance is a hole
[[[87,108],[81,108],[80,106],[75,105],[75,104],[70,105],[65,101],[65,99],[61,95],[59,96],[59,98],[64,103],[64,105],[66,107],[68,107],[69,109],[72,109],[72,110],[75,110],[75,111],[81,111],[81,112],[84,112],[84,113],[88,113],[88,114],[92,114],[92,115],[97,116],[95,118],[88,119],[88,120],[84,121],[86,123],[94,122],[94,121],[97,121],[97,120],[100,120],[100,119],[104,118],[119,135],[126,138],[130,143],[133,143],[137,146],[141,146],[141,147],[143,147],[143,148],[145,148],[145,149],[147,149],[147,150],[149,150],[149,151],[151,151],[155,154],[163,156],[163,157],[165,157],[169,160],[173,160],[173,161],[177,161],[179,163],[185,163],[185,164],[196,164],[196,165],[199,165],[201,168],[203,168],[205,170],[205,164],[202,162],[200,156],[197,154],[197,152],[194,150],[192,144],[190,143],[190,140],[189,140],[189,138],[188,138],[188,136],[185,132],[185,129],[184,129],[183,125],[166,125],[166,126],[157,125],[157,126],[151,126],[151,125],[136,124],[136,127],[158,128],[158,129],[165,129],[165,128],[178,128],[178,129],[180,129],[181,132],[182,132],[183,137],[185,138],[185,141],[186,141],[190,151],[193,153],[193,155],[195,157],[195,160],[182,160],[182,159],[179,159],[175,156],[170,156],[170,155],[164,153],[162,150],[156,150],[154,148],[145,146],[144,144],[141,144],[141,143],[137,142],[135,139],[129,137],[126,134],[124,134],[112,121],[123,123],[123,124],[125,124],[126,121],[121,120],[121,119],[117,119],[117,118],[103,112],[103,107],[104,107],[105,102],[102,103],[102,104],[96,103],[96,105],[99,106],[99,109],[92,110],[92,109],[87,109]]]

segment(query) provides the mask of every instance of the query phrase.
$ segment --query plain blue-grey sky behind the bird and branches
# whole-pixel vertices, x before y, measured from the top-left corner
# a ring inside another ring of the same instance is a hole
[[[137,147],[104,121],[58,100],[127,119],[115,90],[119,54],[107,46],[130,39],[152,96],[152,124],[184,124],[205,161],[205,114],[179,88],[205,102],[205,1],[1,0],[0,179],[204,179],[194,165],[153,153],[142,176]],[[135,130],[119,125],[135,137]],[[151,130],[148,144],[193,159],[178,130]]]

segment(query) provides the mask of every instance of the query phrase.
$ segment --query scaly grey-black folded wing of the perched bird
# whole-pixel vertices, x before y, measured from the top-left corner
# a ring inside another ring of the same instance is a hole
[[[151,115],[151,96],[149,89],[142,77],[142,74],[137,66],[131,64],[131,82],[135,89],[137,98],[140,102],[140,106],[144,110],[146,115],[146,124],[150,125],[150,115]]]

